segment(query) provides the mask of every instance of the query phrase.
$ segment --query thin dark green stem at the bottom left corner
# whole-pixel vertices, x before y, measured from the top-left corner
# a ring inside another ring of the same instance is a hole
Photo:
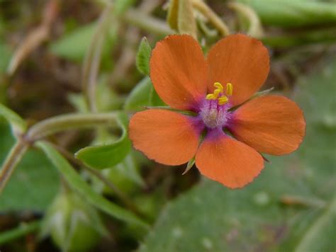
[[[4,231],[0,234],[0,245],[6,244],[9,241],[17,239],[26,234],[32,233],[37,230],[41,225],[40,221],[21,223],[18,227],[11,229],[9,231]]]

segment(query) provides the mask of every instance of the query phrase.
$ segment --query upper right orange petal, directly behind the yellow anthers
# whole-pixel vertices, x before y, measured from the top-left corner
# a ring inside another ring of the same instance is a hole
[[[250,98],[264,84],[269,74],[269,53],[262,42],[247,35],[229,35],[217,42],[208,53],[209,92],[213,84],[233,84],[232,105]]]

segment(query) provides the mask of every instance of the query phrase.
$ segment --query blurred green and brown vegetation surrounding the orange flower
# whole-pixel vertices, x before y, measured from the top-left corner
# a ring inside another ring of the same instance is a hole
[[[230,190],[147,160],[127,127],[163,105],[155,42],[189,33],[207,52],[236,32],[267,45],[264,89],[307,129]],[[0,251],[335,251],[335,52],[333,0],[0,1]]]

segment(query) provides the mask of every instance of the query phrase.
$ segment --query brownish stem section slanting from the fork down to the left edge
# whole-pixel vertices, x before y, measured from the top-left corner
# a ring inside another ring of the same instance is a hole
[[[0,193],[11,177],[11,174],[15,170],[16,165],[19,161],[21,161],[23,155],[26,153],[28,146],[28,142],[23,141],[23,139],[18,139],[18,142],[14,144],[8,156],[6,157],[6,160],[4,161],[0,171]]]

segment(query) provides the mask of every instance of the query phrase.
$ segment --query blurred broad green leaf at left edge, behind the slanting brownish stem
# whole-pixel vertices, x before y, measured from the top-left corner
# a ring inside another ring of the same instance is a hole
[[[0,118],[0,164],[14,139],[9,125]],[[43,211],[52,202],[59,187],[58,174],[40,151],[29,150],[16,167],[0,195],[0,211]]]

